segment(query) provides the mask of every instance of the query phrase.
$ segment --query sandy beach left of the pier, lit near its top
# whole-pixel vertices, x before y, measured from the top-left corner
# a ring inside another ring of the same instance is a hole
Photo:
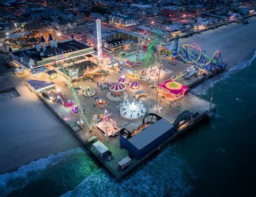
[[[13,76],[8,73],[0,77],[2,87],[15,86],[20,95],[0,94],[0,174],[16,171],[50,154],[82,146],[50,109],[24,86],[21,76]]]

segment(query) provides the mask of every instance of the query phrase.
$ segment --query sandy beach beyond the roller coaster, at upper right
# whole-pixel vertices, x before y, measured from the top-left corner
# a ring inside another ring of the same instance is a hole
[[[180,39],[182,44],[197,43],[208,56],[220,50],[227,69],[240,62],[250,60],[256,50],[256,17],[249,18],[249,24],[231,23],[218,29],[208,30],[192,37]]]

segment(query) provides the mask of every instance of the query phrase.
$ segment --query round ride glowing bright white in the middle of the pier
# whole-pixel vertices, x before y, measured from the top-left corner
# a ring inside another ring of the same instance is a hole
[[[144,118],[146,107],[141,101],[123,102],[120,106],[120,115],[128,121],[140,121]]]

